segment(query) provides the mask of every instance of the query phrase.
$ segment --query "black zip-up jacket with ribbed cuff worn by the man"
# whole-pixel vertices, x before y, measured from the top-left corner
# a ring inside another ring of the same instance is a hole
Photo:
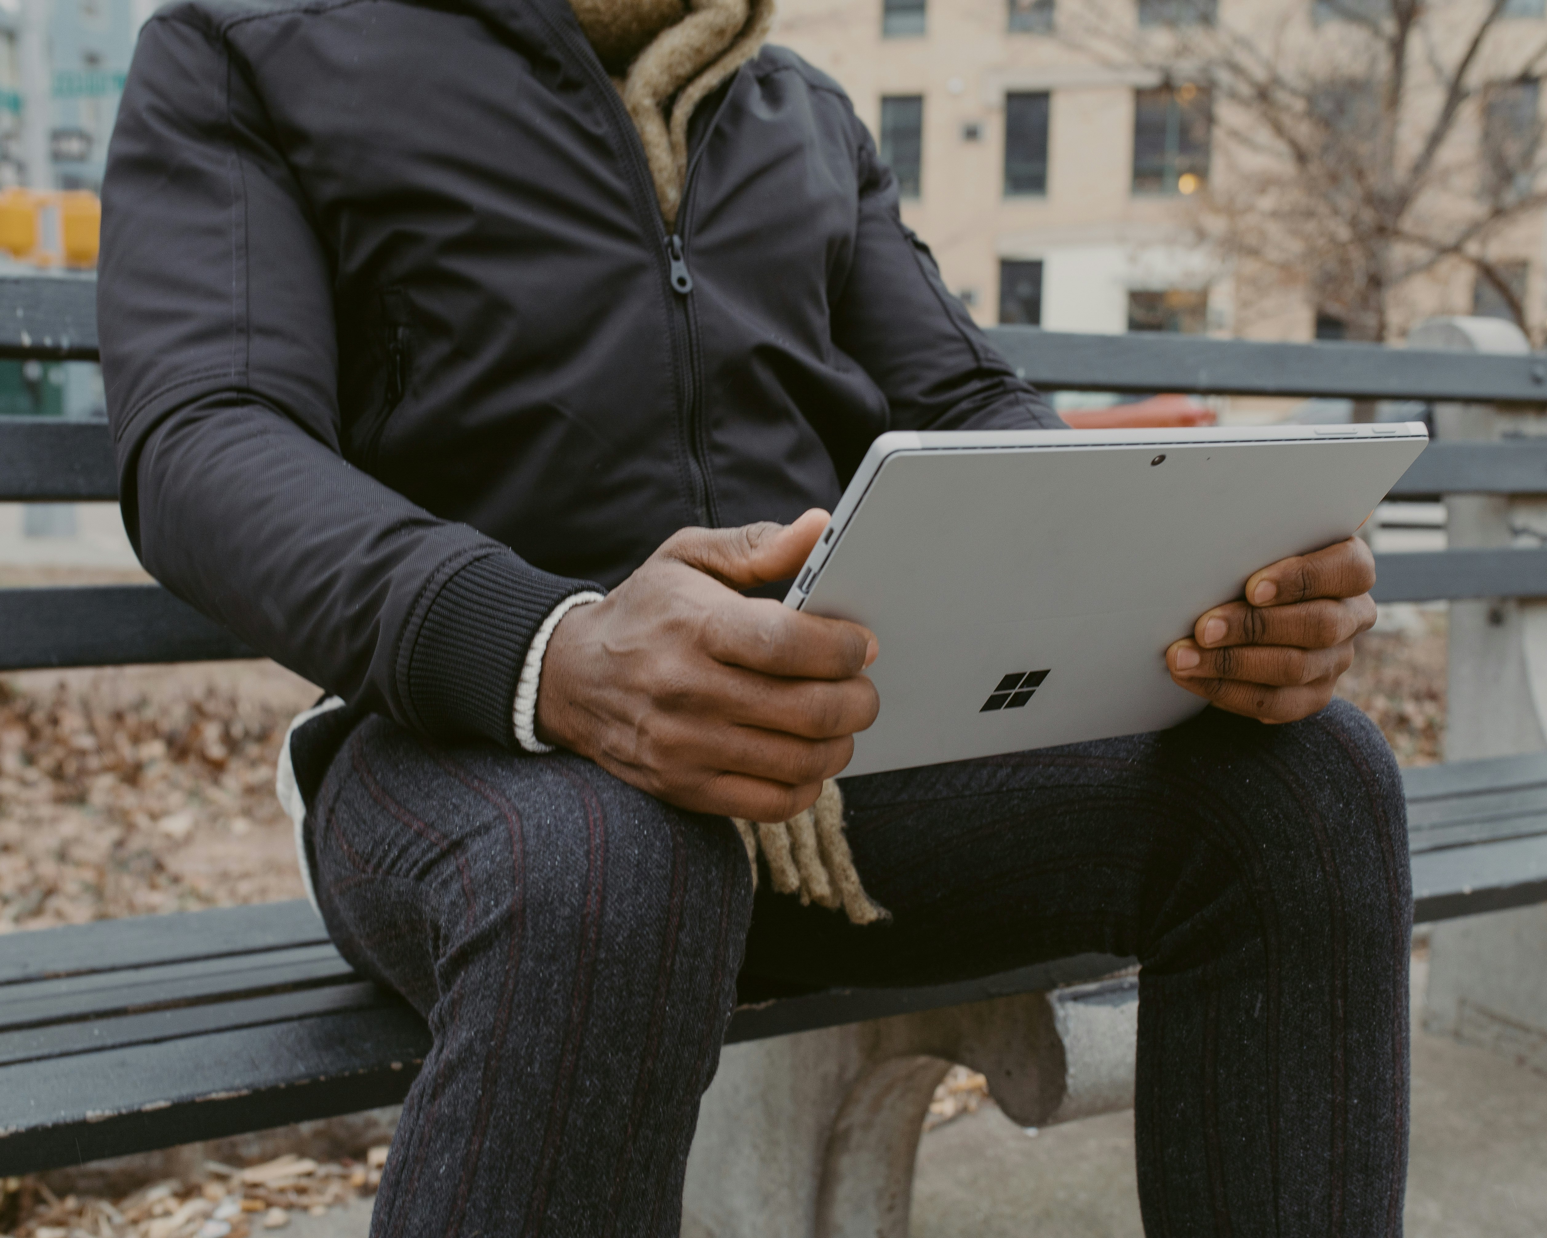
[[[831,506],[886,429],[1057,426],[767,48],[679,237],[566,0],[195,0],[139,36],[99,331],[147,569],[432,737],[512,744],[528,642],[685,525]]]

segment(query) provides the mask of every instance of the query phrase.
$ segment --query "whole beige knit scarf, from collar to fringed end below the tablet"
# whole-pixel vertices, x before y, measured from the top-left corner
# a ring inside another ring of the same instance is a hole
[[[758,54],[774,0],[569,0],[639,130],[661,218],[676,227],[687,178],[687,125],[709,94]],[[752,887],[758,854],[781,894],[842,908],[855,924],[888,919],[854,871],[843,795],[831,778],[817,803],[787,822],[735,820]]]

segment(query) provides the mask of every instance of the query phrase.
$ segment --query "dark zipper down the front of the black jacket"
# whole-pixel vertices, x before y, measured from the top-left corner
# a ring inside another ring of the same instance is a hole
[[[538,6],[541,11],[541,6]],[[585,42],[579,31],[571,31],[568,25],[563,25],[558,19],[548,12],[541,12],[541,17],[548,28],[554,32],[558,42],[569,46],[574,57],[585,65],[586,73],[591,76],[591,84],[596,93],[605,101],[605,107],[613,116],[614,127],[623,135],[623,142],[628,149],[628,167],[631,180],[634,181],[634,204],[644,206],[648,210],[650,218],[654,226],[661,227],[661,207],[656,201],[654,181],[650,176],[650,164],[645,159],[645,144],[639,138],[639,130],[634,128],[634,121],[623,107],[623,101],[613,85],[606,71],[602,68],[602,62],[596,59],[596,53],[591,45]],[[579,36],[579,37],[575,37]],[[729,93],[727,96],[729,97]],[[719,107],[710,118],[709,128],[704,130],[704,136],[699,139],[698,149],[688,159],[687,175],[682,180],[682,200],[678,207],[678,227],[687,220],[688,192],[693,186],[693,173],[698,170],[699,156],[704,147],[709,145],[709,136],[713,133],[715,125],[719,122],[719,113],[726,107],[726,99],[719,101]],[[682,436],[687,439],[687,463],[688,463],[688,486],[692,494],[688,495],[693,508],[693,515],[701,525],[709,528],[716,528],[719,525],[719,514],[716,511],[713,487],[709,480],[709,460],[707,447],[704,443],[702,432],[702,416],[701,416],[701,390],[702,381],[699,376],[699,340],[698,340],[698,320],[693,314],[692,292],[693,292],[693,275],[687,268],[687,255],[684,252],[684,238],[678,232],[662,234],[662,246],[659,249],[659,266],[661,275],[667,283],[668,300],[673,302],[670,313],[670,334],[671,334],[671,361],[679,374],[679,390],[678,390],[678,421]]]

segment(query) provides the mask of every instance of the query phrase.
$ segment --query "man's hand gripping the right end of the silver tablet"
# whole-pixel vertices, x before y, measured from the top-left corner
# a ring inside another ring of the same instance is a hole
[[[1262,723],[1309,718],[1352,664],[1354,638],[1375,622],[1374,583],[1375,557],[1357,537],[1281,559],[1165,651],[1171,678]]]

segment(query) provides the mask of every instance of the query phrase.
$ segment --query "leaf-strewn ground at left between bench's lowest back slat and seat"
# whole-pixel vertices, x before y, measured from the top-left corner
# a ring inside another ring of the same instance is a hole
[[[0,679],[0,932],[300,898],[272,662]]]

